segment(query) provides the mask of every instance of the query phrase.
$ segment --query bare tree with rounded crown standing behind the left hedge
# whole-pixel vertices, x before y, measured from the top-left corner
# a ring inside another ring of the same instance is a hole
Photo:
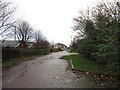
[[[26,21],[20,21],[19,25],[16,26],[16,36],[20,42],[20,47],[26,47],[26,42],[32,37],[33,29],[30,27],[29,23]]]

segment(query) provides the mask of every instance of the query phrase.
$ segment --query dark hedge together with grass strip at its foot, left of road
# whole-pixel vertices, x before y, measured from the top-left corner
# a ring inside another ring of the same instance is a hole
[[[58,52],[59,49],[54,49]],[[2,63],[0,67],[7,67],[16,63],[32,60],[37,57],[51,53],[49,49],[16,49],[16,48],[2,48]]]

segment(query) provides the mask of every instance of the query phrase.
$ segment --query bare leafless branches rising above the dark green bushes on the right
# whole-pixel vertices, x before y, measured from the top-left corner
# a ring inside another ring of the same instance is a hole
[[[101,30],[105,27],[109,27],[117,30],[119,7],[119,2],[116,2],[116,0],[112,2],[105,2],[103,0],[102,3],[98,3],[85,13],[80,11],[80,15],[73,19],[75,25],[72,28],[78,34],[76,38],[84,38],[87,36],[86,25],[89,25],[88,30],[90,30],[90,27],[94,27],[95,29],[101,28]],[[90,32],[93,32],[94,28],[91,28]]]

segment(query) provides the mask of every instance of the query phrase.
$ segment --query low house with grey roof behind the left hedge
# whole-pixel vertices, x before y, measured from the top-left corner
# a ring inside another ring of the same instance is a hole
[[[34,42],[27,42],[26,44],[27,48],[32,48]],[[18,41],[5,40],[4,42],[2,42],[2,47],[20,48],[20,43]]]

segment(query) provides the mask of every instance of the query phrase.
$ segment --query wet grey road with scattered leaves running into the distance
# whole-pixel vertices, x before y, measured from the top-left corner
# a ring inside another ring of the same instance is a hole
[[[22,62],[3,69],[3,88],[93,88],[90,77],[66,70],[67,60],[59,59],[70,53],[63,51]]]

